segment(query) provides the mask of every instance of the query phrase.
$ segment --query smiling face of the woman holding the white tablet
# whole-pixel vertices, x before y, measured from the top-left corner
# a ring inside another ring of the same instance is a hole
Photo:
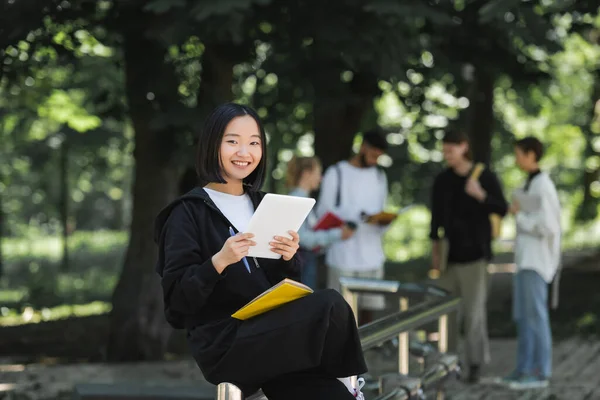
[[[225,128],[220,159],[227,182],[243,181],[260,163],[262,138],[258,124],[249,115],[236,117]]]

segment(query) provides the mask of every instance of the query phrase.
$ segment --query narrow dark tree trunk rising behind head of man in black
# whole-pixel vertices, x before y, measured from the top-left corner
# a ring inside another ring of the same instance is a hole
[[[494,129],[494,77],[483,67],[476,67],[467,109],[467,133],[474,160],[490,164]]]

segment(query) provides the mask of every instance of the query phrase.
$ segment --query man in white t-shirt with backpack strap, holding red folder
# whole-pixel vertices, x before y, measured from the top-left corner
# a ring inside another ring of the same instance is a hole
[[[333,243],[325,256],[327,284],[340,290],[341,277],[383,278],[382,236],[386,227],[364,222],[364,217],[383,211],[388,183],[377,161],[387,150],[385,137],[376,131],[364,134],[360,150],[348,161],[340,161],[325,172],[316,206],[319,217],[332,212],[357,225],[354,236]],[[370,322],[373,310],[385,307],[381,295],[359,298],[361,324]]]

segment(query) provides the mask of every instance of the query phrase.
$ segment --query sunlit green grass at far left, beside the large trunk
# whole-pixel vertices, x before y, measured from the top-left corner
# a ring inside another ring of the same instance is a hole
[[[0,302],[22,311],[109,301],[126,246],[125,232],[77,232],[69,238],[69,271],[62,271],[60,237],[6,239]]]

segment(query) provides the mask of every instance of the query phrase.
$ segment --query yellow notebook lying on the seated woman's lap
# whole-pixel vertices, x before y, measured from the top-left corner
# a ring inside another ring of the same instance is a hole
[[[236,319],[249,319],[286,303],[297,300],[313,292],[308,286],[292,279],[284,279],[277,285],[265,290],[233,315]]]

